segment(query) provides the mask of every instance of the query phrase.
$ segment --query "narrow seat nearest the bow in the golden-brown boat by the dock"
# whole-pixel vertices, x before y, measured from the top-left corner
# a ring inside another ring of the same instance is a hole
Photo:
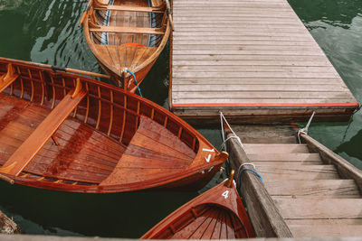
[[[118,33],[138,33],[138,34],[165,34],[165,29],[161,28],[138,28],[138,27],[114,27],[90,24],[90,32],[118,32]]]

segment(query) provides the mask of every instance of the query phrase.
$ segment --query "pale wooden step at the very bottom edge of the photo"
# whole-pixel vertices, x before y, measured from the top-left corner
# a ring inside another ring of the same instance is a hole
[[[362,236],[362,225],[290,225],[294,237]]]

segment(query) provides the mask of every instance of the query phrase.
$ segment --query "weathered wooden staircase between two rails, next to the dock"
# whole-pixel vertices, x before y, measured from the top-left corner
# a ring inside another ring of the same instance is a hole
[[[362,171],[334,153],[332,160],[326,155],[332,152],[308,135],[301,137],[307,144],[297,144],[291,129],[264,125],[234,131],[292,236],[362,236]]]

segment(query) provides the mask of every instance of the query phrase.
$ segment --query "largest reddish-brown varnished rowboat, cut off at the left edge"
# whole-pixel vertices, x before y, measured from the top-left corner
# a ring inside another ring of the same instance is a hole
[[[0,58],[0,177],[78,192],[198,189],[227,153],[155,103],[54,68]]]

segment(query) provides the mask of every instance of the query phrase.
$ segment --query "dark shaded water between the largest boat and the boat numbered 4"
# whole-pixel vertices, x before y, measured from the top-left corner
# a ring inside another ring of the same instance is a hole
[[[79,194],[0,183],[1,208],[26,233],[139,237],[196,192]]]

